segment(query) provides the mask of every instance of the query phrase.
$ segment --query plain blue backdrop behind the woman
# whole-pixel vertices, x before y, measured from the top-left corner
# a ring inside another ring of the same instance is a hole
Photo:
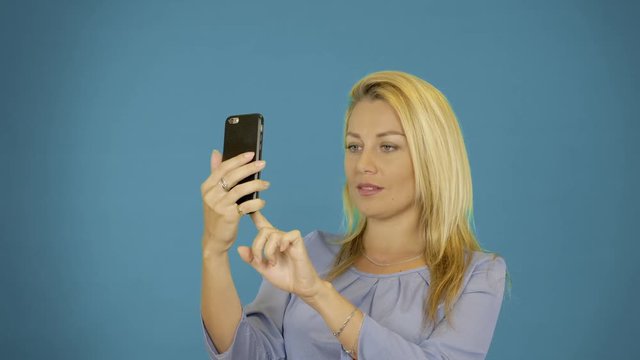
[[[459,117],[513,281],[488,358],[637,355],[637,3],[391,3],[2,1],[0,358],[205,359],[200,184],[225,117],[265,115],[270,220],[337,232],[347,93],[385,69]]]

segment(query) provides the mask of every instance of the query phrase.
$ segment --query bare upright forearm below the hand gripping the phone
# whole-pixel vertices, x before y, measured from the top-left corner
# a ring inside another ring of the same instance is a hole
[[[202,319],[209,335],[222,353],[233,343],[242,318],[242,304],[238,297],[227,253],[203,251],[202,257]]]

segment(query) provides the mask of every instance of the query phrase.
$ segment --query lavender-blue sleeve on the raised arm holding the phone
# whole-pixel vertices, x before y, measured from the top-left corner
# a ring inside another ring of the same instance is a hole
[[[211,359],[285,359],[282,322],[290,294],[263,280],[253,303],[242,309],[233,344],[220,353],[202,321],[207,353]]]

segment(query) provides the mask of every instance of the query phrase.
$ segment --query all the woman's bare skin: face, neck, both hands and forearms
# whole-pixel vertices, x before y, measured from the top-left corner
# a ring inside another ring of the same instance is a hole
[[[357,194],[359,182],[384,187],[372,197],[354,195],[358,209],[367,216],[364,241],[367,253],[376,260],[393,262],[420,253],[417,242],[417,213],[413,201],[413,168],[406,139],[402,135],[378,136],[389,131],[402,132],[393,109],[385,102],[361,101],[354,108],[348,143],[356,143],[345,155],[345,172],[352,194]],[[391,145],[395,149],[391,149]],[[392,151],[390,151],[392,150]],[[264,162],[249,163],[252,153],[221,162],[221,155],[211,155],[211,175],[201,186],[204,206],[202,239],[203,272],[201,312],[205,326],[220,352],[228,350],[242,315],[242,307],[229,269],[229,249],[233,245],[241,214],[235,201],[254,191],[264,191],[268,182],[253,180],[225,191],[222,178],[234,186],[240,179],[262,170]],[[355,306],[337,292],[330,282],[320,278],[314,269],[299,231],[275,228],[259,211],[264,200],[243,203],[240,210],[251,214],[257,235],[251,247],[240,246],[242,260],[258,271],[265,280],[291,292],[315,309],[328,328],[335,331],[351,314]],[[393,239],[390,241],[389,239]],[[263,256],[264,254],[264,256]],[[403,264],[402,269],[423,265]],[[360,269],[384,273],[398,271],[398,267],[376,268],[359,260]],[[345,348],[358,343],[364,314],[356,311],[338,338]]]

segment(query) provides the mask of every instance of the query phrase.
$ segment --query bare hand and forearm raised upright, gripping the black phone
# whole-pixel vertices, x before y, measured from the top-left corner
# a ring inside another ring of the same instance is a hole
[[[211,175],[202,183],[204,231],[202,234],[201,313],[219,351],[233,342],[234,331],[242,316],[242,304],[231,278],[228,250],[238,234],[241,214],[235,202],[245,194],[266,190],[269,183],[253,180],[227,192],[219,185],[224,177],[234,186],[244,177],[264,168],[264,162],[249,163],[253,153],[241,154],[222,162],[222,155],[211,154]],[[258,211],[264,200],[250,200],[240,207],[244,212]]]

